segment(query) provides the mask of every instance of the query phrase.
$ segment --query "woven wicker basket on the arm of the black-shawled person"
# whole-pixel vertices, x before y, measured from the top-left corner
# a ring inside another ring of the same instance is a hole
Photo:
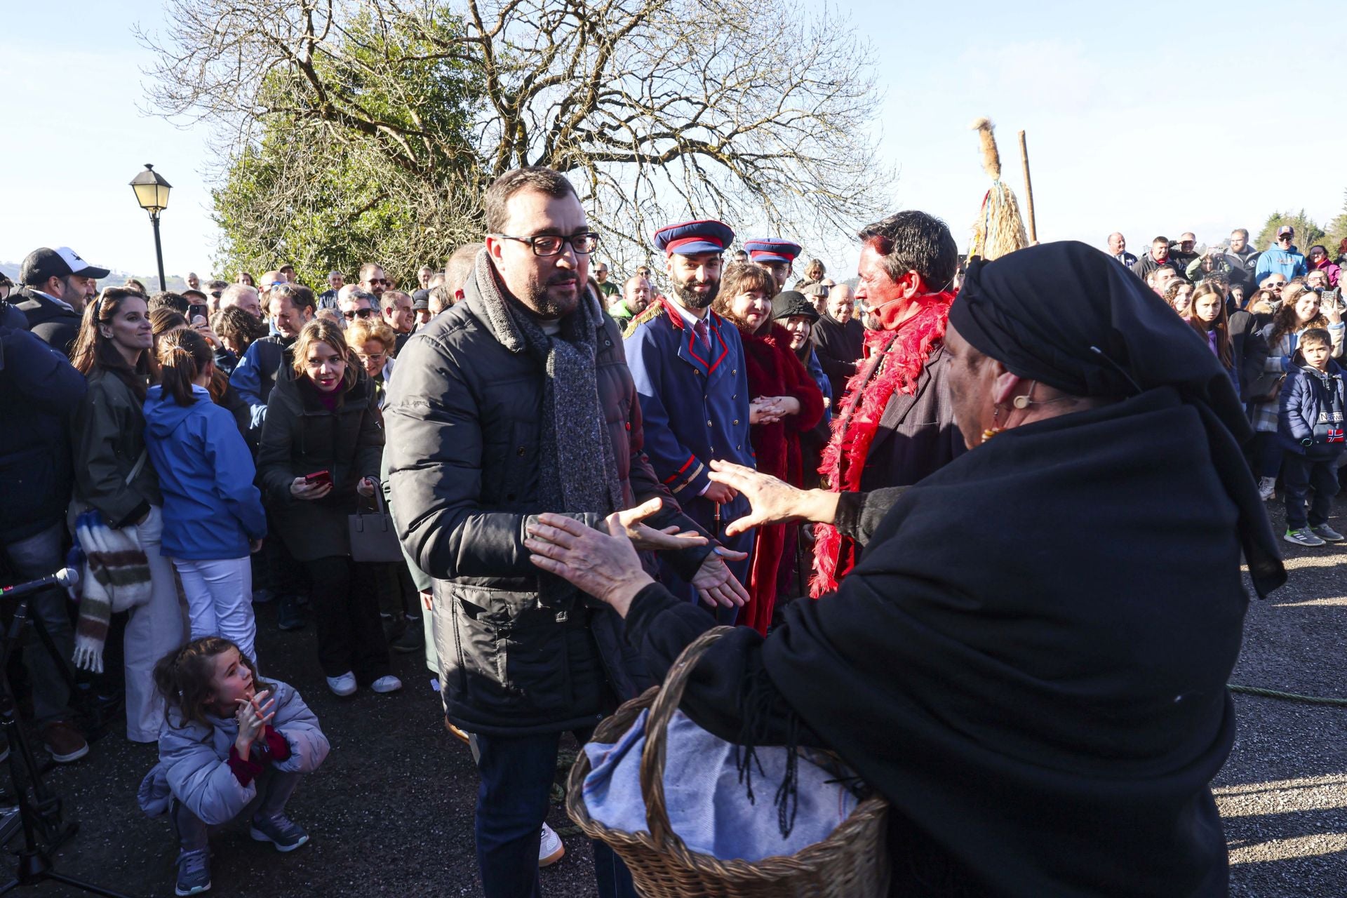
[[[669,718],[683,697],[688,675],[707,648],[731,627],[703,633],[669,668],[664,687],[652,687],[603,720],[597,742],[617,742],[651,708],[641,754],[641,796],[649,832],[618,832],[590,819],[583,785],[590,771],[582,751],[567,782],[566,812],[590,839],[599,839],[626,862],[636,889],[645,898],[873,898],[889,882],[885,841],[888,804],[865,798],[823,841],[789,856],[757,862],[719,860],[688,850],[669,828],[664,806],[664,751]]]

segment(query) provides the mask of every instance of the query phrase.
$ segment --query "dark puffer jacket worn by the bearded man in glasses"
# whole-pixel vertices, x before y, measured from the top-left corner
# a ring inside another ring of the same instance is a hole
[[[524,536],[537,514],[555,510],[539,501],[544,372],[532,354],[497,341],[475,279],[465,292],[408,341],[384,405],[399,536],[435,579],[446,716],[497,735],[589,727],[648,680],[612,609],[575,594],[546,605],[539,595]],[[653,525],[696,529],[641,451],[641,407],[607,315],[597,338],[599,403],[625,501],[657,495],[664,509]],[[669,560],[690,578],[709,551]]]

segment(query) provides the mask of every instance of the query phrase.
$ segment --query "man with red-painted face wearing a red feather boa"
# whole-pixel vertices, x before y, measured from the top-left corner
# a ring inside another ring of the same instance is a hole
[[[959,265],[954,237],[916,210],[866,225],[859,237],[855,298],[867,331],[819,469],[834,493],[912,485],[963,452],[944,357]],[[818,598],[838,588],[861,549],[828,524],[815,536],[810,595]]]

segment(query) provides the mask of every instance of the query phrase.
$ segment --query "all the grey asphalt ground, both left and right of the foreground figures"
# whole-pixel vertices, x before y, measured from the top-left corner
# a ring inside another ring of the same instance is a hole
[[[1280,533],[1280,504],[1270,504]],[[1339,505],[1334,522],[1347,530]],[[1289,692],[1347,697],[1342,582],[1347,547],[1285,545],[1290,582],[1250,606],[1233,680]],[[323,687],[310,626],[280,633],[275,609],[259,606],[259,652],[267,673],[296,685],[333,743],[323,769],[291,801],[310,844],[288,855],[226,829],[213,841],[214,894],[480,895],[473,856],[477,775],[467,747],[450,736],[419,654],[395,657],[405,688],[337,699]],[[1214,786],[1230,843],[1231,894],[1336,895],[1347,882],[1347,708],[1235,696],[1234,753]],[[574,746],[571,746],[574,749]],[[176,848],[164,819],[145,819],[136,786],[154,746],[116,728],[89,758],[54,770],[79,833],[58,868],[129,895],[171,895]],[[564,810],[567,856],[543,871],[550,895],[594,895],[590,851]],[[564,828],[564,829],[563,829]],[[82,894],[46,886],[42,894]]]

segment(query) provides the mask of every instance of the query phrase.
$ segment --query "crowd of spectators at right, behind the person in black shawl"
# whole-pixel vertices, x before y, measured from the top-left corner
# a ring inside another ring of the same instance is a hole
[[[1145,257],[1121,233],[1109,252],[1189,322],[1220,359],[1257,431],[1249,447],[1262,498],[1281,481],[1288,543],[1321,547],[1343,536],[1328,525],[1343,436],[1343,312],[1339,284],[1347,241],[1336,256],[1321,245],[1301,253],[1290,225],[1258,250],[1243,228],[1196,250],[1189,232],[1156,237]],[[1321,349],[1319,349],[1321,347]],[[1307,513],[1307,502],[1309,510]]]

